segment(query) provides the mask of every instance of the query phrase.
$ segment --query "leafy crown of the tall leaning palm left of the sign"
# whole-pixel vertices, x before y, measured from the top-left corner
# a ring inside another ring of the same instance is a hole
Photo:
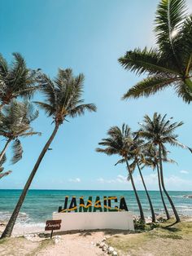
[[[66,117],[81,116],[85,110],[95,112],[94,104],[83,104],[84,75],[74,77],[72,69],[61,69],[55,79],[51,80],[45,74],[41,77],[41,91],[45,96],[44,102],[35,103],[46,111],[49,117],[53,117],[57,126],[61,125]]]

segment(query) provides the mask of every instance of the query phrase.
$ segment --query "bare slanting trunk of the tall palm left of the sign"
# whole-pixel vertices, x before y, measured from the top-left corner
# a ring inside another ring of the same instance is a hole
[[[33,167],[33,170],[31,172],[30,176],[28,177],[28,181],[25,184],[24,189],[23,189],[23,191],[20,195],[20,199],[17,202],[17,205],[15,206],[15,210],[13,211],[9,222],[7,223],[7,227],[5,228],[4,232],[2,233],[1,239],[4,238],[4,237],[7,237],[7,236],[11,236],[11,232],[12,232],[13,227],[15,225],[16,218],[17,218],[17,216],[20,212],[20,208],[23,205],[24,198],[25,198],[25,196],[28,192],[28,188],[30,187],[30,185],[33,181],[33,178],[34,178],[34,176],[37,172],[37,169],[38,169],[38,167],[41,163],[42,158],[45,156],[47,149],[50,147],[50,143],[55,138],[55,135],[56,135],[58,129],[59,129],[59,125],[55,125],[55,129],[53,130],[52,134],[50,135],[50,139],[48,139],[48,141],[46,142],[46,145],[42,149],[41,154],[39,155],[39,157],[37,159],[37,162],[36,162],[35,166]]]

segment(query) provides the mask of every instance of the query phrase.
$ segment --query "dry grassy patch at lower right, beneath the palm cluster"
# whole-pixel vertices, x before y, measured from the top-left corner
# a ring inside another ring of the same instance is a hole
[[[172,220],[159,227],[145,226],[134,234],[119,234],[107,239],[120,255],[192,255],[192,222],[184,220],[173,227],[166,227]]]

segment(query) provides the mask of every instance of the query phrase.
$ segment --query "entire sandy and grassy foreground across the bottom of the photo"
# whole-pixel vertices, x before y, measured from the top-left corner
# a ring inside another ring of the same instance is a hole
[[[168,225],[168,223],[163,223]],[[0,231],[5,225],[0,224]],[[76,231],[50,232],[37,236],[37,227],[15,227],[13,236],[0,241],[1,256],[94,256],[107,255],[96,244],[104,241],[113,246],[119,256],[189,256],[192,255],[192,218],[182,218],[171,229],[155,228],[149,232],[129,233],[128,231]],[[36,228],[36,232],[34,232]],[[39,227],[38,232],[44,228]],[[30,232],[31,234],[27,234]],[[18,236],[18,234],[25,234]]]

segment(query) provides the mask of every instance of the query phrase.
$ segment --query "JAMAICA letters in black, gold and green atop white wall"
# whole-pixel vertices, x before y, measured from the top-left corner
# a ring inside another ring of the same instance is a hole
[[[111,206],[111,202],[116,206]],[[118,204],[119,202],[119,204]],[[118,204],[118,205],[117,205]],[[59,206],[59,213],[74,212],[112,212],[112,211],[128,211],[126,201],[124,196],[120,197],[118,201],[117,196],[103,196],[103,201],[101,201],[100,196],[96,196],[93,201],[93,196],[89,196],[88,201],[84,201],[83,196],[79,198],[79,205],[76,203],[76,196],[65,196],[64,206]]]

